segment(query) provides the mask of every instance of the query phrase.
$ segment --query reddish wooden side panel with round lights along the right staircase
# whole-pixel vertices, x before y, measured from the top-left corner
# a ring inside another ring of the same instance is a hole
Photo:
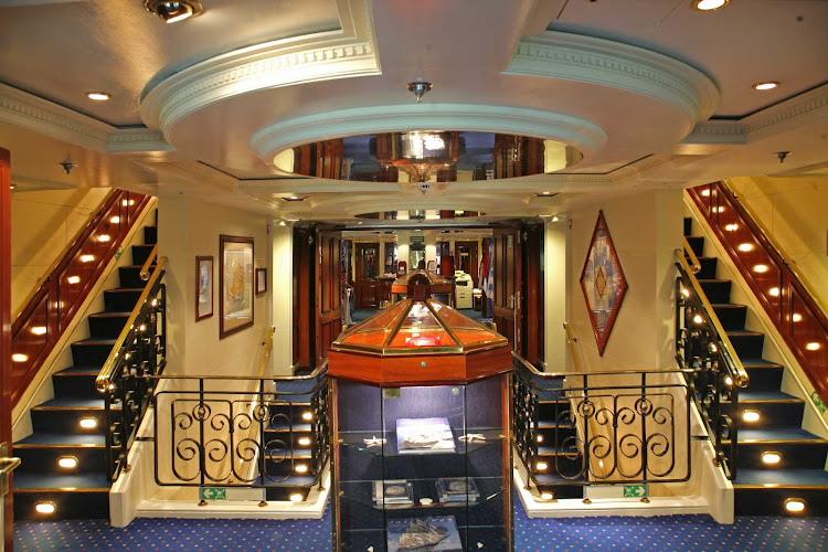
[[[816,288],[724,182],[692,188],[687,193],[814,389],[828,401],[828,312]]]

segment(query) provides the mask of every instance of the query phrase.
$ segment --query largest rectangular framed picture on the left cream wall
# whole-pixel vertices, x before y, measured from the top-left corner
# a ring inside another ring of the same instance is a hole
[[[253,326],[253,238],[219,236],[219,338]]]

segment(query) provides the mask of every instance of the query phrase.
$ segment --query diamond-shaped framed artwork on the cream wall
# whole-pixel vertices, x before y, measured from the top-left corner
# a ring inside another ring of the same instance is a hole
[[[598,354],[603,357],[627,293],[627,278],[624,277],[618,255],[615,253],[615,245],[604,220],[604,211],[598,211],[598,220],[592,233],[590,251],[581,272],[581,289],[584,291],[586,309],[590,311]]]

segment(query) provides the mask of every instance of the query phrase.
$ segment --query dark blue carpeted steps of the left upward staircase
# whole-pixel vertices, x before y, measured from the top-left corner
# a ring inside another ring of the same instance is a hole
[[[72,343],[73,365],[52,375],[54,399],[31,410],[34,432],[14,443],[22,460],[14,471],[15,519],[109,517],[104,399],[95,378],[141,295],[140,269],[156,241],[157,226],[145,226],[145,245],[134,245],[131,266],[118,268],[120,287],[105,290],[105,310],[87,317],[89,338]],[[35,509],[50,503],[52,513]]]

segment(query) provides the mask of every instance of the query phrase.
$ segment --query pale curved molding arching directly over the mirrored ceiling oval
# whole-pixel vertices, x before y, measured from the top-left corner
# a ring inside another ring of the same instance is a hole
[[[264,162],[272,164],[276,153],[301,144],[424,128],[554,139],[581,150],[585,160],[607,141],[607,135],[599,126],[552,112],[493,105],[412,103],[342,109],[276,123],[253,135],[251,148]]]

